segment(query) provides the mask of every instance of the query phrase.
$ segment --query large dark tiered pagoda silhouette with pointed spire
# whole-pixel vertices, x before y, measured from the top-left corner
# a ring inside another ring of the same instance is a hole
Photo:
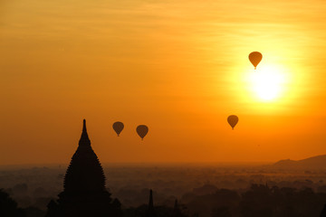
[[[83,120],[82,137],[64,177],[63,192],[45,217],[120,217],[120,202],[105,189],[101,163],[91,148]]]

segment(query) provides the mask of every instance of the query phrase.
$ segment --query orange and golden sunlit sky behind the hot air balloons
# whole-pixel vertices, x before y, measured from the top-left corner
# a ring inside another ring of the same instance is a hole
[[[323,0],[1,1],[0,164],[68,163],[82,118],[101,162],[326,154],[325,11]],[[264,67],[285,78],[270,101],[250,81]]]

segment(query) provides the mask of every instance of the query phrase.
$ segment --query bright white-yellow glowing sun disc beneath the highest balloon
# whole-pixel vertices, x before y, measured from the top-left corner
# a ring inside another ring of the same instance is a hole
[[[250,73],[249,80],[255,97],[260,100],[273,101],[282,96],[285,76],[278,67],[258,67]]]

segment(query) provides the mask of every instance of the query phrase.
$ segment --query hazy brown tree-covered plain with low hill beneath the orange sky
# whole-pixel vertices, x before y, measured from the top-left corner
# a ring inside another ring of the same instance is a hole
[[[319,216],[326,203],[325,165],[326,156],[316,156],[269,165],[104,164],[103,170],[125,216],[141,216],[153,189],[154,207],[172,209],[177,199],[185,216],[308,217]],[[62,192],[66,168],[2,166],[0,186],[27,216],[44,216]]]

